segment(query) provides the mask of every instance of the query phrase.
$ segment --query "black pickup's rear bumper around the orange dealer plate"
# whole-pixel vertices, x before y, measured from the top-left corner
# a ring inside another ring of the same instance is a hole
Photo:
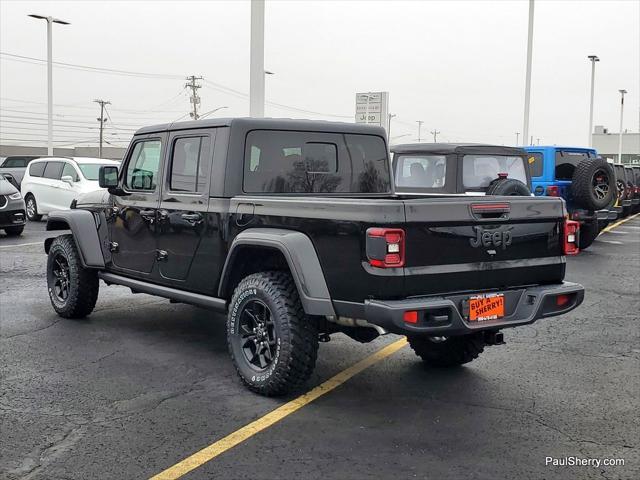
[[[464,335],[481,330],[498,330],[533,323],[540,318],[562,315],[578,307],[584,300],[584,287],[563,282],[529,288],[504,290],[504,318],[470,322],[463,315],[463,302],[470,294],[446,297],[409,298],[405,300],[367,300],[365,318],[369,323],[402,335],[449,336]],[[567,295],[569,300],[558,306],[556,297]],[[404,312],[418,311],[418,322],[406,323]]]

